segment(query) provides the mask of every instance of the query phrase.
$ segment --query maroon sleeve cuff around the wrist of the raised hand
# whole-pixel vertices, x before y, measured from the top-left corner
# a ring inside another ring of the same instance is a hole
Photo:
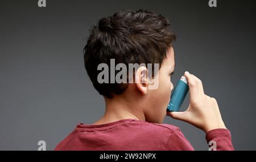
[[[213,129],[206,135],[207,143],[211,150],[217,151],[233,151],[231,133],[228,129]]]

